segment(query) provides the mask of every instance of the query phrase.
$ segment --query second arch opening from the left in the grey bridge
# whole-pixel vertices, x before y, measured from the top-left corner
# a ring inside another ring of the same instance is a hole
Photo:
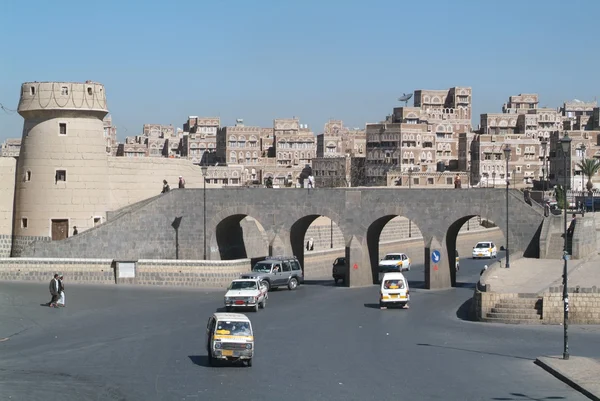
[[[290,242],[305,281],[333,282],[333,263],[346,255],[344,235],[335,221],[321,215],[304,216],[292,225]]]

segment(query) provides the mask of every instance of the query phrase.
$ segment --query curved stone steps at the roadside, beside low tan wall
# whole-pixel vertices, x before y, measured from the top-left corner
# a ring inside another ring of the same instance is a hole
[[[537,294],[518,294],[517,298],[501,299],[482,319],[490,323],[540,324],[542,297]]]

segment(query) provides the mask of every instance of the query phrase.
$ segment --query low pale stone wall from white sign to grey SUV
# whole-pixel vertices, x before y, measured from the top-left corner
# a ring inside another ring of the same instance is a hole
[[[240,274],[250,270],[250,259],[139,260],[135,284],[226,288],[231,280],[240,278]]]

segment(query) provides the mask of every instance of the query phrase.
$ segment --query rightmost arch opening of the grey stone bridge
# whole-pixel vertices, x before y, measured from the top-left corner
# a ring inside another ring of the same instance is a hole
[[[482,256],[473,258],[473,248],[478,242],[489,241],[496,246],[496,257]],[[446,232],[446,251],[449,263],[450,282],[452,287],[473,286],[479,280],[485,265],[500,261],[504,257],[506,237],[504,231],[496,223],[479,215],[461,217],[448,227]],[[456,264],[458,254],[458,266]]]

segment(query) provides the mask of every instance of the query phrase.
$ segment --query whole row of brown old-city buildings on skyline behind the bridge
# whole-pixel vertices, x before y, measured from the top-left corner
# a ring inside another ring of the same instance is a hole
[[[520,94],[510,96],[500,113],[482,114],[474,128],[472,89],[453,87],[415,90],[412,107],[395,107],[364,129],[330,120],[317,135],[295,117],[260,127],[243,119],[222,126],[219,117],[189,116],[182,128],[144,124],[140,135],[122,143],[110,115],[103,127],[108,155],[186,159],[215,167],[216,175],[206,178],[214,185],[264,185],[270,178],[279,187],[301,185],[307,166],[318,187],[452,186],[457,175],[468,186],[506,185],[507,179],[515,187],[562,182],[556,148],[568,133],[573,151],[566,174],[571,188],[582,189],[577,164],[600,158],[599,110],[596,101],[579,100],[539,107],[537,94]],[[7,139],[0,155],[18,156],[20,144]],[[506,145],[514,150],[508,176]]]

